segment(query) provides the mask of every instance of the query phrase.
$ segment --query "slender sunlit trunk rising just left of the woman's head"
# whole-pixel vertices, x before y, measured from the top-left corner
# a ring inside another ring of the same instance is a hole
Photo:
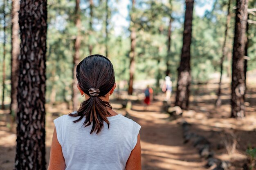
[[[81,45],[81,36],[80,36],[80,30],[81,30],[81,19],[80,19],[80,0],[76,0],[76,7],[75,7],[75,25],[77,28],[77,35],[74,40],[74,48],[75,53],[73,56],[73,89],[72,89],[72,102],[73,102],[73,110],[77,109],[78,106],[78,95],[76,93],[77,86],[76,86],[76,65],[79,64],[79,50]]]

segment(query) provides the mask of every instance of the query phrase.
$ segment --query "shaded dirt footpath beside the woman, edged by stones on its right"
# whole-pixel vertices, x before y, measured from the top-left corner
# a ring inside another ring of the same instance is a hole
[[[169,121],[161,106],[162,102],[153,102],[144,111],[141,104],[134,104],[129,111],[129,118],[141,125],[142,170],[206,170],[198,151],[183,144],[179,122]]]

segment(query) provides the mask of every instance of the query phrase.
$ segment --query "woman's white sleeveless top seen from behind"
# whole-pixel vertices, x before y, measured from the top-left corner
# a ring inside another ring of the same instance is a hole
[[[109,129],[104,121],[99,134],[90,134],[92,125],[83,126],[85,117],[74,123],[78,118],[63,115],[54,119],[65,170],[125,170],[141,126],[119,114],[108,117]]]

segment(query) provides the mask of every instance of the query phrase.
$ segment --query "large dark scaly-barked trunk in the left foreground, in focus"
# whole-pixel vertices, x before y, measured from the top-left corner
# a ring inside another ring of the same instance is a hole
[[[47,1],[21,0],[19,24],[21,43],[15,170],[46,170]]]

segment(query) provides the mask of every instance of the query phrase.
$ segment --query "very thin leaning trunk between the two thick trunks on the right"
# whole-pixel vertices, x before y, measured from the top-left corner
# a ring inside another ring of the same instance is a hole
[[[225,29],[225,38],[224,38],[224,42],[223,42],[223,46],[222,46],[222,56],[220,59],[220,82],[219,82],[219,89],[218,89],[218,93],[217,93],[217,100],[216,100],[216,105],[220,106],[221,105],[221,99],[220,99],[220,95],[221,95],[221,80],[222,80],[222,72],[223,72],[223,61],[225,56],[227,55],[227,46],[226,46],[226,42],[227,42],[227,32],[229,29],[229,22],[230,22],[230,3],[231,0],[229,0],[228,3],[228,9],[227,9],[227,21],[226,21],[226,29]]]

